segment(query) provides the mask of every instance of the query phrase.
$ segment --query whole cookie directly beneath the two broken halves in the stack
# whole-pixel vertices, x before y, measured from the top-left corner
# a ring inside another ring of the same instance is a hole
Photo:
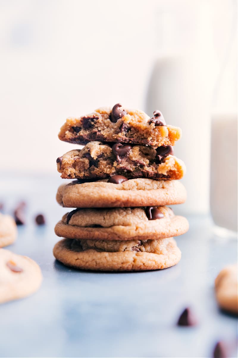
[[[57,202],[67,208],[173,205],[184,203],[186,197],[186,189],[178,180],[127,180],[123,177],[118,178],[117,175],[109,181],[102,179],[80,183],[75,180],[69,184],[62,184],[56,194]]]

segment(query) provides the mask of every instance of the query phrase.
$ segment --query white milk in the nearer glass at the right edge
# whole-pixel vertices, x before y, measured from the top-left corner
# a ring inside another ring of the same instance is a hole
[[[237,113],[212,115],[210,201],[214,223],[237,231]]]

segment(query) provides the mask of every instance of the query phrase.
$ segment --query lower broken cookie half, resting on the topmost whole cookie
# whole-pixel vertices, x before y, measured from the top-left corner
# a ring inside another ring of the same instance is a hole
[[[186,171],[182,160],[173,156],[171,145],[113,145],[90,142],[83,149],[67,152],[57,159],[63,179],[126,178],[181,179]]]

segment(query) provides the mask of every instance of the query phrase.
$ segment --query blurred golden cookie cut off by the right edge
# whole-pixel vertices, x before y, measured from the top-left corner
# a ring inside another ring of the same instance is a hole
[[[238,314],[237,265],[230,265],[219,272],[215,280],[216,298],[219,306]]]

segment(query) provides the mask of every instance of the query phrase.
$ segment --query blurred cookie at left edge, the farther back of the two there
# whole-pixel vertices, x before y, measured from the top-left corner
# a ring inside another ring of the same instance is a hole
[[[0,247],[11,245],[17,237],[17,227],[14,218],[0,213]]]

